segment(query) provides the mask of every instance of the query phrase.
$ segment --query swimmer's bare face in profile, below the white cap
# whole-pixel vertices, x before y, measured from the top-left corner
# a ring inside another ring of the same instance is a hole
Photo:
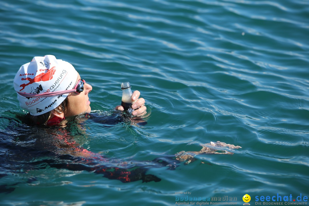
[[[80,76],[78,74],[76,82],[80,80]],[[90,113],[90,101],[88,97],[88,93],[92,90],[92,86],[90,84],[84,84],[84,90],[79,93],[70,93],[68,95],[68,105],[65,112],[65,117],[75,116],[83,113]]]

